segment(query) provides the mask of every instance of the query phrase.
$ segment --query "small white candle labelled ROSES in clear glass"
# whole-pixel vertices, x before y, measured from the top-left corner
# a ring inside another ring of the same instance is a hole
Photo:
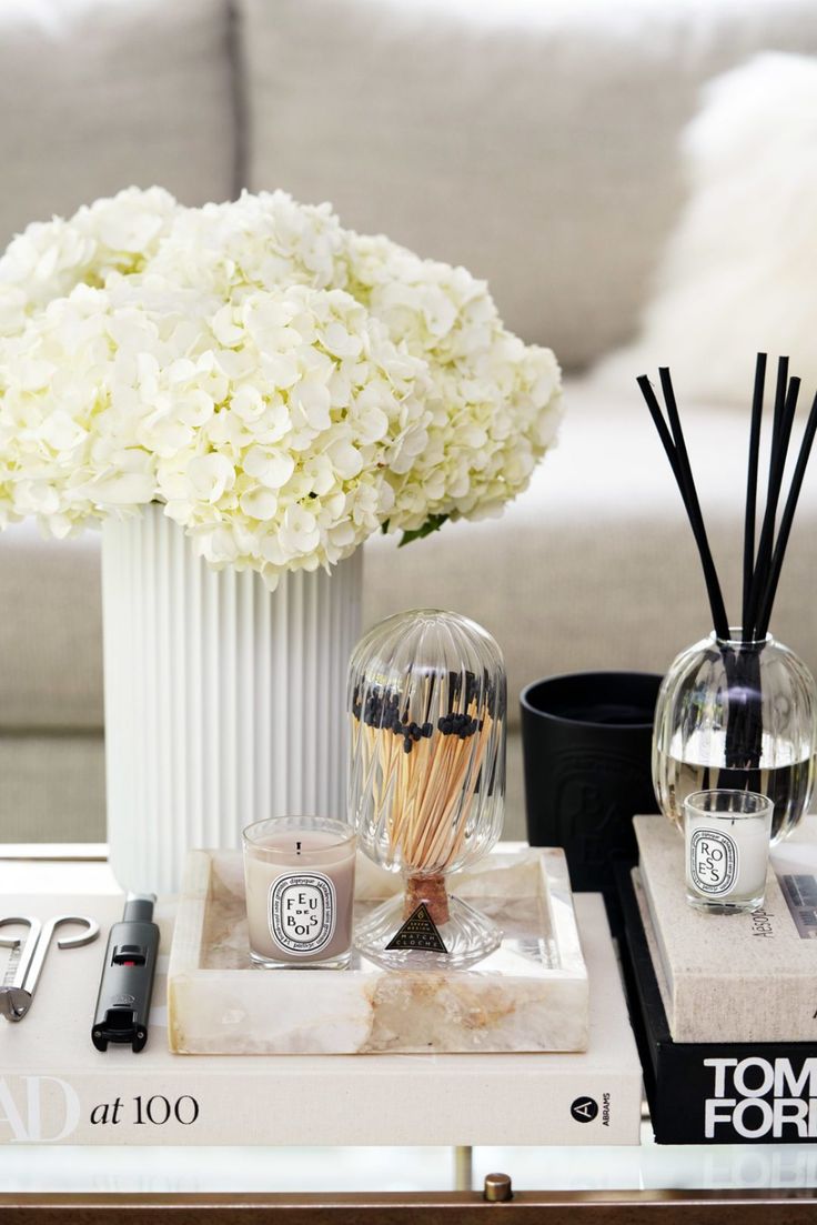
[[[753,791],[696,791],[683,801],[690,905],[719,914],[763,904],[774,805]]]

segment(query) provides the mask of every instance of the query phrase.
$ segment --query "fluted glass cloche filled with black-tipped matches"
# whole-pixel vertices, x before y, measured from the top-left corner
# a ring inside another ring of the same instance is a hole
[[[486,855],[502,828],[506,704],[500,648],[454,612],[399,614],[356,647],[349,813],[360,849],[405,882],[359,925],[365,957],[451,969],[500,944],[496,924],[448,882]]]

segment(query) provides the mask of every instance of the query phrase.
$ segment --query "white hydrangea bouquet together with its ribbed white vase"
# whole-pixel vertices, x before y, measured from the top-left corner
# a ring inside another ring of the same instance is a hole
[[[11,243],[0,527],[103,524],[124,888],[178,889],[254,813],[345,811],[359,545],[497,512],[559,415],[552,353],[483,282],[326,205],[130,189]]]

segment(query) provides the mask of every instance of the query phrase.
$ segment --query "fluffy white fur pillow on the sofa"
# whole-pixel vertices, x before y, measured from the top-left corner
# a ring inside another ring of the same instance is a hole
[[[748,403],[764,349],[813,388],[817,60],[767,53],[717,77],[682,153],[686,208],[641,338],[609,369],[670,365],[683,396]]]

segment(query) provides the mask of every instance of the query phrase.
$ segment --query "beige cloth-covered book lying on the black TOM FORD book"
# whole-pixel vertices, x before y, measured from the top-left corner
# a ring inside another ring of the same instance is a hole
[[[641,882],[676,1042],[817,1040],[817,817],[773,849],[762,909],[715,915],[686,902],[683,838],[636,817]]]

